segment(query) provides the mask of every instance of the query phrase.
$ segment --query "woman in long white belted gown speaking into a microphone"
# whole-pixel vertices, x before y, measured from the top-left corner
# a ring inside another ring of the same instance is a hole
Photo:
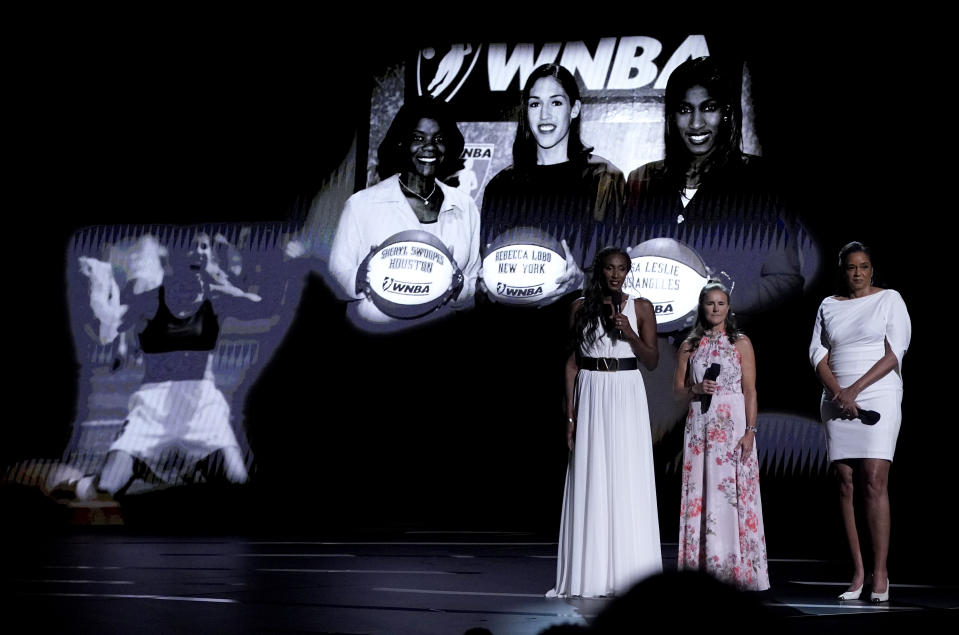
[[[570,456],[556,586],[548,597],[621,594],[662,571],[653,447],[638,362],[659,361],[647,300],[622,293],[629,256],[601,250],[573,303],[566,363]]]

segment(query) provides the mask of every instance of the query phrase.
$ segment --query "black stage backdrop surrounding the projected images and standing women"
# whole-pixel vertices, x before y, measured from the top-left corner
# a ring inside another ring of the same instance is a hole
[[[945,282],[954,240],[943,203],[954,143],[928,25],[809,19],[789,28],[680,30],[673,18],[636,16],[635,28],[594,18],[551,29],[526,19],[452,27],[409,17],[375,28],[345,19],[294,28],[253,15],[111,18],[120,21],[34,23],[15,51],[4,465],[56,458],[72,433],[78,361],[64,272],[78,229],[305,221],[354,137],[369,133],[372,78],[407,59],[424,33],[439,44],[705,33],[747,59],[763,155],[784,175],[827,272],[801,302],[753,327],[781,342],[757,352],[760,404],[791,400],[815,416],[818,383],[805,357],[815,309],[832,291],[838,248],[872,245],[913,320],[890,484],[892,553],[955,558],[954,548],[927,539],[947,526],[959,440],[949,390],[954,292]],[[483,351],[471,329],[481,326],[465,316],[410,336],[362,336],[322,277],[310,274],[283,344],[247,396],[257,470],[231,495],[232,528],[555,532],[562,419],[548,435],[503,425],[509,404],[497,401],[494,378],[473,370]],[[503,338],[522,336],[509,327],[495,328]],[[516,371],[504,366],[504,375]],[[389,403],[397,404],[392,416]],[[841,552],[828,477],[764,478],[771,554],[777,543],[811,536]],[[676,498],[664,477],[664,540],[673,539]],[[131,510],[147,525],[175,516],[182,528],[203,528],[212,520],[185,515],[203,505],[183,500],[135,507],[157,510]]]

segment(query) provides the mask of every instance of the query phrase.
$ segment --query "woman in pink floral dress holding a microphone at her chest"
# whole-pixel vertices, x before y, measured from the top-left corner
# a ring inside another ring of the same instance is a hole
[[[677,398],[692,400],[677,566],[740,589],[768,589],[755,444],[756,359],[719,283],[710,282],[699,295],[696,325],[680,347],[673,383]]]

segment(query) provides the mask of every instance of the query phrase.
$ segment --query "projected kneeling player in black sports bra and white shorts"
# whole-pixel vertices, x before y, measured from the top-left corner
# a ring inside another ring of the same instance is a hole
[[[96,265],[106,263],[81,258],[82,270],[93,282],[91,307],[101,336],[105,325],[121,338],[122,331],[135,329],[144,375],[103,467],[75,484],[77,498],[123,493],[135,475],[175,484],[199,470],[208,480],[246,482],[230,406],[214,383],[213,350],[220,318],[242,312],[243,305],[260,297],[233,284],[229,266],[217,262],[206,233],[168,247],[145,237],[130,263],[128,285],[118,302],[104,294],[102,280],[97,280],[104,271]]]

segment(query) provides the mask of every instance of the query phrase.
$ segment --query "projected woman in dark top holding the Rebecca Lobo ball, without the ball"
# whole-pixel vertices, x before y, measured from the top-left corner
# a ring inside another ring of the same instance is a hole
[[[542,245],[545,236],[562,249],[558,256],[565,259],[565,270],[555,288],[536,300],[538,306],[567,295],[575,299],[583,269],[595,256],[597,225],[616,221],[622,207],[623,174],[580,138],[582,108],[569,70],[558,64],[536,68],[522,92],[513,163],[483,194],[484,245],[519,228],[512,238],[517,244]],[[490,281],[485,286],[493,301],[502,299]]]

